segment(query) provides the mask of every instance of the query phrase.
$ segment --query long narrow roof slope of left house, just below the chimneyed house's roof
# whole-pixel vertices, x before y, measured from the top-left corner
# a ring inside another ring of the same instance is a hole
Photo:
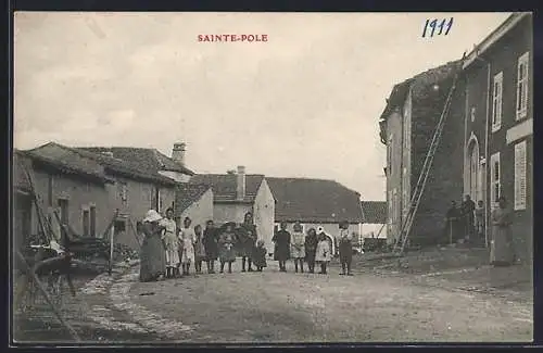
[[[114,159],[104,154],[93,153],[80,149],[70,148],[55,142],[49,142],[27,151],[33,155],[55,161],[60,164],[77,165],[94,172],[122,175],[131,179],[140,179],[161,185],[174,186],[176,182],[153,171],[141,168],[140,165]]]

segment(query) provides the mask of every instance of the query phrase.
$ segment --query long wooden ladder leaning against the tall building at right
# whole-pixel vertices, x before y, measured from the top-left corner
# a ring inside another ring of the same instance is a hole
[[[460,62],[462,65],[462,62]],[[462,66],[460,66],[462,67]],[[439,143],[441,141],[441,136],[443,134],[443,127],[445,126],[446,116],[449,115],[449,111],[451,108],[451,102],[453,100],[454,90],[456,88],[456,81],[458,79],[459,70],[456,70],[456,73],[453,78],[453,85],[449,91],[449,96],[445,101],[445,105],[443,106],[443,111],[441,112],[440,119],[438,122],[438,126],[435,127],[435,131],[433,133],[432,141],[430,143],[430,149],[425,157],[425,163],[422,165],[422,169],[420,171],[417,186],[415,187],[413,197],[409,202],[409,210],[407,211],[407,215],[405,217],[404,223],[402,224],[402,229],[400,231],[400,241],[396,241],[393,248],[393,253],[403,254],[405,250],[405,244],[407,243],[407,239],[409,236],[411,228],[413,226],[413,222],[415,219],[415,215],[417,214],[418,206],[420,204],[420,199],[422,198],[422,193],[425,191],[426,182],[428,180],[428,176],[430,175],[430,169],[432,167],[433,156],[435,155],[435,151],[438,150]]]

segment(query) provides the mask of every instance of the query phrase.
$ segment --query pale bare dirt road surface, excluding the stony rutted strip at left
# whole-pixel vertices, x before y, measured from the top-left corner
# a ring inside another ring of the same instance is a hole
[[[175,336],[178,342],[532,340],[529,301],[442,288],[440,276],[285,274],[269,265],[264,273],[235,268],[233,274],[127,282],[126,300],[160,315],[163,326],[190,327]]]

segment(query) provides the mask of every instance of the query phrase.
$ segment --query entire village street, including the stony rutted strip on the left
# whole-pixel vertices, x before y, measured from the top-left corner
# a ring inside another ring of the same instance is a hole
[[[317,275],[290,264],[285,274],[276,262],[240,273],[238,261],[232,274],[141,283],[135,265],[81,287],[67,319],[84,340],[104,343],[531,341],[528,272],[451,255],[471,266],[425,269],[412,259],[409,274],[387,268],[391,261],[357,263],[343,277],[337,265]]]

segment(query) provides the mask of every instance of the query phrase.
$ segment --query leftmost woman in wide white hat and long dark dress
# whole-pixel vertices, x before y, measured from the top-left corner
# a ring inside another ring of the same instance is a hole
[[[159,223],[162,216],[154,210],[150,210],[141,230],[144,234],[141,244],[139,280],[142,282],[159,280],[166,273],[166,252],[162,241],[164,227]]]

